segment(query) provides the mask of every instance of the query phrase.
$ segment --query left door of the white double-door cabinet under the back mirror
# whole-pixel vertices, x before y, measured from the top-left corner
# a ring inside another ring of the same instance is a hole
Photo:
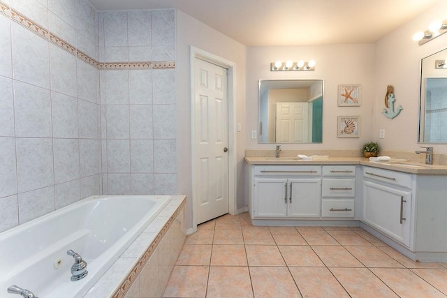
[[[286,217],[287,179],[254,179],[254,218]]]

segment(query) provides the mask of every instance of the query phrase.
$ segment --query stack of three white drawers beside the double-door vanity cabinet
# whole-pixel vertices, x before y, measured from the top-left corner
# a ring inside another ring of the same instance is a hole
[[[323,165],[321,217],[353,218],[356,165]]]

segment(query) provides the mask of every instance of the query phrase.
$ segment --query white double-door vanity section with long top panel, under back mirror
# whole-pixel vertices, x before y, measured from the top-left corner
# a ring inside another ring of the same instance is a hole
[[[320,217],[320,165],[257,165],[252,174],[252,218]]]

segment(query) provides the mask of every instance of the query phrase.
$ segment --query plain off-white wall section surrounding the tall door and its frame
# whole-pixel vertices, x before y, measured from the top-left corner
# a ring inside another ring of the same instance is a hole
[[[187,195],[186,223],[192,226],[192,179],[191,179],[191,75],[189,68],[190,47],[198,47],[236,64],[236,121],[242,124],[242,132],[236,133],[237,148],[237,207],[244,202],[244,149],[245,149],[245,47],[228,36],[177,10],[177,151],[178,192]]]

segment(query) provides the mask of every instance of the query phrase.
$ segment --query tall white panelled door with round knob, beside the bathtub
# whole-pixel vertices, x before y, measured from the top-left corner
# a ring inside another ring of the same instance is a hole
[[[197,224],[228,213],[228,78],[226,69],[195,58]]]

